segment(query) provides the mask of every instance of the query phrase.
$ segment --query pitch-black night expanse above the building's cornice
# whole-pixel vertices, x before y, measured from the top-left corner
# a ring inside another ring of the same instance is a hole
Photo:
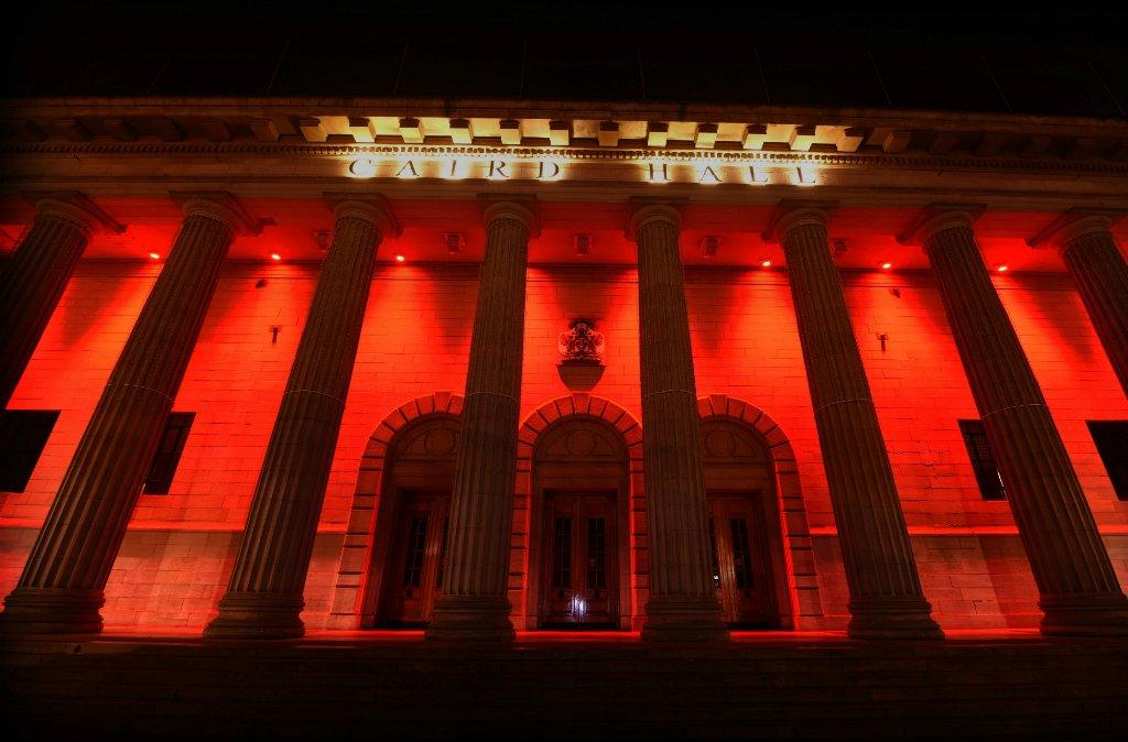
[[[47,0],[8,26],[3,95],[1128,107],[1128,14],[1095,5],[404,5]]]

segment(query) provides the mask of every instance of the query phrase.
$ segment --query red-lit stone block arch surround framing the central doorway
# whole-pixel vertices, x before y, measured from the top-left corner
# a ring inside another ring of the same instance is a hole
[[[620,606],[618,625],[620,628],[637,629],[642,624],[643,607],[647,597],[647,559],[645,539],[634,535],[645,532],[646,512],[643,496],[642,476],[642,426],[625,409],[601,397],[573,394],[554,399],[530,414],[518,433],[517,483],[513,500],[513,547],[510,553],[510,603],[513,607],[513,624],[519,629],[536,629],[539,622],[539,584],[537,560],[539,540],[537,535],[540,511],[538,497],[543,494],[536,463],[546,461],[566,466],[566,454],[557,454],[554,439],[566,435],[569,423],[587,423],[589,430],[608,441],[605,448],[617,448],[622,482],[618,486],[620,503],[620,528],[623,548],[620,554]],[[610,441],[615,441],[610,443]],[[563,442],[563,440],[557,441]],[[547,448],[546,448],[547,444]],[[565,447],[566,448],[566,447]],[[596,449],[593,448],[592,451]],[[563,451],[563,449],[562,449]],[[587,456],[591,451],[580,451]],[[580,457],[582,458],[582,457]],[[615,457],[606,451],[603,458],[609,463]],[[550,465],[552,466],[552,465]],[[597,461],[594,466],[600,466]]]

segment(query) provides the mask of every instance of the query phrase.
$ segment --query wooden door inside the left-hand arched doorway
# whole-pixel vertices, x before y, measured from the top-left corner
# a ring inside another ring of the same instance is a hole
[[[450,493],[402,496],[381,619],[396,626],[425,626],[442,589]]]

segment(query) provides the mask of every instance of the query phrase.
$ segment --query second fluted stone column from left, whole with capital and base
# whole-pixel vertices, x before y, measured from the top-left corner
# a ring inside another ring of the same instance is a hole
[[[160,443],[228,248],[258,223],[226,194],[185,194],[184,222],[32,547],[0,627],[102,630],[103,589]]]

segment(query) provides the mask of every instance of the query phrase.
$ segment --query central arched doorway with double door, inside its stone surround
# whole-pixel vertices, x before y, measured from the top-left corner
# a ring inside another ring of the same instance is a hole
[[[627,447],[590,415],[549,425],[532,456],[528,600],[538,628],[629,627]]]

